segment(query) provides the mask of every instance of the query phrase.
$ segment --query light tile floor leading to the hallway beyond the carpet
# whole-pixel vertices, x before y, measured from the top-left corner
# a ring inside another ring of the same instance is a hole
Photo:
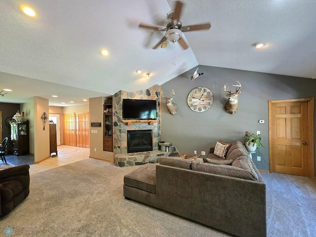
[[[30,165],[30,174],[36,174],[65,164],[89,158],[90,149],[60,145],[57,147],[58,157],[44,159],[38,164]]]

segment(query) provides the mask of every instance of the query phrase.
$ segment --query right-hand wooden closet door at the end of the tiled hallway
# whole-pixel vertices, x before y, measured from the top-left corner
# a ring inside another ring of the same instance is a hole
[[[89,114],[76,114],[77,147],[89,148]]]

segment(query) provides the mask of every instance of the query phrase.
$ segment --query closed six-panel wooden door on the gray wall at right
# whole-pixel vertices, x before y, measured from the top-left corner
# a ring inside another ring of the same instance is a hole
[[[309,149],[314,149],[314,143],[309,136],[312,132],[309,102],[291,100],[269,103],[271,170],[310,176]]]

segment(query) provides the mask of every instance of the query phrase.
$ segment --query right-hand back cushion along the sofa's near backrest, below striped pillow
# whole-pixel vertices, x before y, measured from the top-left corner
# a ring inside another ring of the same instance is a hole
[[[247,180],[256,180],[248,170],[241,169],[232,165],[199,163],[196,165],[192,165],[192,169],[217,175],[224,175]]]

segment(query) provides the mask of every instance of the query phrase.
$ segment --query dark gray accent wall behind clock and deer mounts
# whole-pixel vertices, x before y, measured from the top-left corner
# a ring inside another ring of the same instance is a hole
[[[204,76],[199,76],[193,82],[190,77],[197,67]],[[177,114],[171,115],[161,98],[161,140],[171,142],[180,154],[194,155],[197,150],[197,155],[201,151],[207,155],[216,141],[243,142],[245,131],[255,134],[261,131],[261,142],[265,148],[252,154],[252,159],[258,169],[269,170],[268,101],[316,97],[316,80],[201,65],[197,67],[161,85],[165,96],[171,95],[174,89],[172,102],[178,105]],[[229,115],[224,110],[227,97],[223,87],[228,83],[233,92],[233,84],[237,80],[242,86],[238,111]],[[189,92],[197,86],[209,88],[214,96],[213,105],[202,113],[192,111],[187,104]],[[259,123],[260,119],[265,123]],[[315,119],[314,115],[314,124]],[[257,161],[257,156],[261,157],[261,161]]]

